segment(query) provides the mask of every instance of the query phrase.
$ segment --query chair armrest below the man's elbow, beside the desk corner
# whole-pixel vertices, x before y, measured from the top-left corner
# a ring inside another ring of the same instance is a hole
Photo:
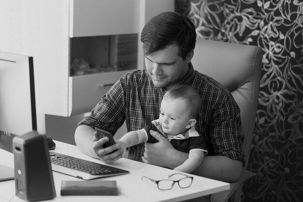
[[[255,175],[256,173],[243,169],[239,180],[237,182],[230,183],[230,189],[212,194],[211,202],[227,202],[228,198],[236,191],[239,186],[242,185],[242,183]]]

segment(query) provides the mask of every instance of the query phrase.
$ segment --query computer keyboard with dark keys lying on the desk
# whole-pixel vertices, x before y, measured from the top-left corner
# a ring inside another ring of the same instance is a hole
[[[69,155],[62,155],[56,152],[49,152],[49,157],[53,171],[84,180],[129,173],[129,171],[119,168],[75,158]]]

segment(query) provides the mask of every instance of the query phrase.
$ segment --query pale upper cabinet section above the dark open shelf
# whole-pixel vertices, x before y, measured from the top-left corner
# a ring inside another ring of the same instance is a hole
[[[138,32],[138,0],[71,0],[70,37]]]

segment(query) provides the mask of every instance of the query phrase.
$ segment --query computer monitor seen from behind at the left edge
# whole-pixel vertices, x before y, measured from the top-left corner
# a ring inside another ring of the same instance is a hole
[[[12,152],[12,140],[37,130],[33,58],[0,52],[0,149]]]

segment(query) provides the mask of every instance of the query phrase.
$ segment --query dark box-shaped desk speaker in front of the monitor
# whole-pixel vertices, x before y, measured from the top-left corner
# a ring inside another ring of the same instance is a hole
[[[31,131],[13,139],[15,190],[20,199],[33,202],[56,197],[45,135]]]

